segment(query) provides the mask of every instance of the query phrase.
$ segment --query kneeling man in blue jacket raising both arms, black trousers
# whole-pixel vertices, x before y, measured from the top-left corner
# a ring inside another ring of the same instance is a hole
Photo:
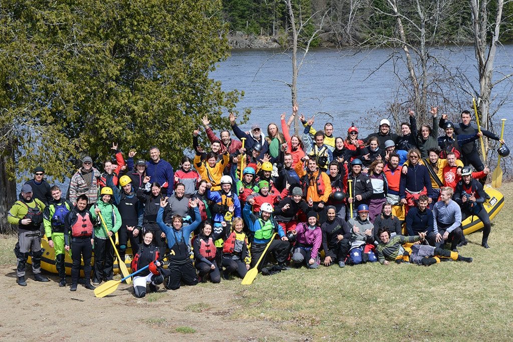
[[[183,280],[186,285],[198,284],[196,270],[192,266],[192,260],[189,254],[189,235],[201,223],[200,210],[198,209],[198,199],[189,200],[189,206],[194,210],[195,220],[190,225],[183,227],[183,218],[180,215],[174,215],[171,218],[171,227],[167,226],[163,220],[164,208],[167,206],[167,200],[160,200],[159,212],[157,212],[157,224],[166,234],[167,246],[170,249],[168,260],[168,270],[171,272],[165,283],[166,289],[177,290]]]

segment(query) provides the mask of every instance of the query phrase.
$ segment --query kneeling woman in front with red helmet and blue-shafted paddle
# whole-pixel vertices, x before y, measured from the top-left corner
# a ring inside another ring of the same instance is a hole
[[[157,292],[159,290],[157,285],[164,282],[164,276],[159,270],[161,267],[159,248],[151,243],[152,240],[153,232],[148,230],[144,233],[143,243],[139,244],[137,254],[135,254],[130,265],[132,272],[135,272],[151,264],[149,268],[133,277],[133,293],[137,298],[142,298],[146,295],[146,284],[150,284],[151,293]]]

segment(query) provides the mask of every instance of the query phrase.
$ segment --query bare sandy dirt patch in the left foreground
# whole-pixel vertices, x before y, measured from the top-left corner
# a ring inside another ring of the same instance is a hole
[[[28,265],[28,268],[30,266]],[[2,340],[158,340],[260,341],[305,340],[280,323],[245,321],[233,317],[235,291],[223,285],[200,284],[135,298],[132,287],[121,284],[112,295],[94,297],[78,286],[38,283],[27,272],[27,286],[16,285],[15,268],[0,268]],[[236,280],[230,280],[236,281]]]

